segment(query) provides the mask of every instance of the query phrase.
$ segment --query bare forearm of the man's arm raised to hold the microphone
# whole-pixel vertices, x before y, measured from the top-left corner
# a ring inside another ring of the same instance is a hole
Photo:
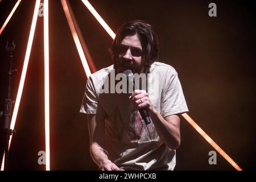
[[[149,113],[160,139],[172,150],[180,146],[179,127],[166,121],[158,111]],[[175,118],[179,119],[179,117]]]

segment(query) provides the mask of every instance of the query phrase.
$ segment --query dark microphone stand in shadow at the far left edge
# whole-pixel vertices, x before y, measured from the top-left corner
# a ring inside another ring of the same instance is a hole
[[[10,119],[11,119],[11,105],[14,104],[14,101],[11,100],[11,80],[13,77],[13,74],[17,72],[16,69],[13,69],[13,51],[15,49],[15,43],[14,40],[11,42],[11,45],[9,45],[8,41],[6,43],[6,51],[9,53],[9,61],[10,61],[10,69],[8,72],[9,75],[9,86],[8,86],[8,92],[7,92],[7,99],[5,100],[5,114],[3,116],[3,126],[4,126],[4,134],[5,134],[5,171],[9,169],[9,140],[10,135],[15,134],[14,130],[10,129]]]

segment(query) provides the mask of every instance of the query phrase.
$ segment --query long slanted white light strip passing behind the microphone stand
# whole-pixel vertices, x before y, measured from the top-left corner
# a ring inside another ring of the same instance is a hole
[[[35,34],[36,20],[38,19],[39,6],[40,6],[40,0],[36,0],[35,10],[34,10],[32,23],[31,23],[31,28],[30,28],[30,35],[28,37],[26,55],[25,55],[24,64],[23,64],[23,68],[22,68],[22,75],[21,75],[20,81],[19,81],[19,88],[18,88],[18,93],[17,93],[17,96],[16,96],[16,100],[15,100],[13,116],[11,117],[11,125],[10,125],[11,130],[14,130],[15,122],[16,122],[16,118],[17,118],[17,114],[18,114],[18,110],[19,110],[20,99],[21,99],[21,96],[22,96],[23,86],[24,86],[26,73],[27,73],[28,61],[30,59],[30,52],[31,52],[32,42],[33,42],[34,34]],[[9,149],[10,149],[12,137],[13,137],[13,135],[10,136]],[[1,168],[1,171],[2,171],[2,168]]]

